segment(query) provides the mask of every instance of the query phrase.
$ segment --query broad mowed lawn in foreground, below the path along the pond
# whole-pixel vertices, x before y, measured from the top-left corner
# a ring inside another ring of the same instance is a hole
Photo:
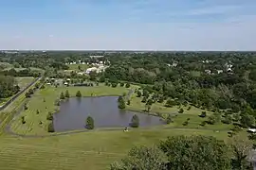
[[[135,145],[153,145],[167,136],[211,135],[227,139],[227,131],[148,128],[128,132],[91,131],[46,138],[0,137],[3,170],[103,170]]]

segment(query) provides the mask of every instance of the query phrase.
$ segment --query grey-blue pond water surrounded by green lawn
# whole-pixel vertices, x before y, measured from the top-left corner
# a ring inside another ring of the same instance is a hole
[[[57,132],[84,128],[88,115],[97,127],[129,127],[134,114],[139,127],[162,125],[159,117],[130,110],[119,110],[117,96],[69,98],[61,104],[60,112],[54,114]]]

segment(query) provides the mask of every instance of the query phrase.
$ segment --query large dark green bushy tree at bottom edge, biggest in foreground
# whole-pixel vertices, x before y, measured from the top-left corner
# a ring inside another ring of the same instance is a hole
[[[213,137],[169,137],[159,148],[168,157],[168,169],[230,169],[228,145]]]

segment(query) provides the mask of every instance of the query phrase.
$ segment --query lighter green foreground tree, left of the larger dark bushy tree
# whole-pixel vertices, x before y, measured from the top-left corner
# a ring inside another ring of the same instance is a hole
[[[110,165],[111,170],[167,170],[167,157],[157,147],[133,147],[128,156]]]

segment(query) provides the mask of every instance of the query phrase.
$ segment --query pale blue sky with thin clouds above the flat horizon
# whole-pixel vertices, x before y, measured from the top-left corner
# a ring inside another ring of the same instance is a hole
[[[256,50],[256,0],[0,0],[0,49]]]

